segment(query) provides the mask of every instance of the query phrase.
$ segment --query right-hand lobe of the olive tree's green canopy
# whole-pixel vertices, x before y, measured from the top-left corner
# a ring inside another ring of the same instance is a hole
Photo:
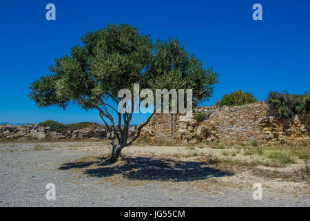
[[[213,68],[203,67],[195,55],[189,54],[177,39],[157,40],[150,66],[145,73],[147,88],[193,89],[193,104],[207,100],[213,93],[211,85],[218,75]],[[186,91],[185,91],[186,96]]]

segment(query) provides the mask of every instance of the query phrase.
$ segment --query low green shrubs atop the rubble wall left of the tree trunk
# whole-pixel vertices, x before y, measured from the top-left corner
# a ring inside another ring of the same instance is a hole
[[[58,133],[63,133],[64,131],[67,131],[67,130],[81,130],[83,128],[87,128],[90,126],[104,127],[101,124],[96,124],[93,122],[79,122],[76,124],[61,124],[53,120],[47,120],[45,122],[39,123],[38,125],[43,126],[43,127],[49,127],[50,131],[56,131]]]

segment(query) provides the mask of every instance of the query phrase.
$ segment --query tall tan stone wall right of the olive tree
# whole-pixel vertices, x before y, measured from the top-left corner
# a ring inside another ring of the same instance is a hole
[[[196,113],[206,113],[203,122],[194,119]],[[154,140],[174,140],[186,143],[214,142],[262,143],[307,140],[310,133],[310,114],[280,119],[278,111],[263,102],[244,106],[206,106],[194,110],[193,117],[154,115],[141,131],[141,137]],[[175,131],[173,133],[173,128]]]

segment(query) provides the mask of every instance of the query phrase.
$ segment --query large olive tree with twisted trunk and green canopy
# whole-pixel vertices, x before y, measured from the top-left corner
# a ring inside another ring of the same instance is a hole
[[[112,140],[111,162],[123,157],[122,149],[139,137],[154,114],[138,125],[134,137],[128,137],[133,111],[122,113],[117,108],[119,90],[133,92],[134,84],[152,91],[189,88],[194,104],[213,93],[217,74],[186,52],[177,39],[153,42],[130,25],[112,23],[87,33],[81,41],[83,44],[71,48],[70,55],[54,60],[49,74],[31,84],[29,96],[43,108],[65,109],[73,103],[85,110],[98,110]]]

